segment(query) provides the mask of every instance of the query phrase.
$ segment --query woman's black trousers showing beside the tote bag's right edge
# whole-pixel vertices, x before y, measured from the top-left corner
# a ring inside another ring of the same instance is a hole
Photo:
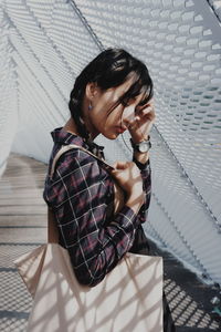
[[[151,248],[149,247],[148,239],[146,238],[141,226],[137,229],[135,241],[129,252],[154,256],[154,252],[151,252]],[[176,332],[175,323],[172,321],[171,312],[165,292],[162,292],[162,308],[164,308],[164,332]]]

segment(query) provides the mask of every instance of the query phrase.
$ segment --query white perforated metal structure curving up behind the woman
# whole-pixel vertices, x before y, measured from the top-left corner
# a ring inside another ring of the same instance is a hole
[[[4,0],[0,168],[10,151],[46,162],[74,79],[103,48],[145,61],[155,82],[148,235],[221,282],[221,1]],[[128,142],[128,137],[125,136]],[[128,158],[124,142],[106,156]]]

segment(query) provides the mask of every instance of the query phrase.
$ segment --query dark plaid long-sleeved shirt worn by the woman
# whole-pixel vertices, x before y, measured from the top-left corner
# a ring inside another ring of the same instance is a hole
[[[54,147],[49,164],[62,145],[76,144],[92,151],[80,136],[52,132]],[[94,147],[98,147],[93,143]],[[141,166],[137,164],[138,166]],[[144,167],[143,167],[144,168]],[[146,204],[136,215],[124,206],[109,214],[114,204],[114,184],[102,162],[81,149],[64,153],[56,163],[53,178],[45,179],[43,197],[53,209],[60,243],[69,250],[75,276],[81,283],[95,286],[133,247],[137,229],[146,220],[150,200],[150,167],[140,170]],[[143,228],[141,228],[143,230]]]

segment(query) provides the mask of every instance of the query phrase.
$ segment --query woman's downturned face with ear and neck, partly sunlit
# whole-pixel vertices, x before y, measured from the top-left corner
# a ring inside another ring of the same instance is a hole
[[[129,100],[127,105],[119,103],[120,97],[128,91],[131,80],[117,87],[102,91],[94,83],[87,84],[84,118],[93,138],[103,134],[106,138],[115,139],[135,122],[144,94]],[[90,110],[88,105],[92,105]],[[117,105],[118,104],[118,105]],[[115,107],[115,105],[117,105]]]

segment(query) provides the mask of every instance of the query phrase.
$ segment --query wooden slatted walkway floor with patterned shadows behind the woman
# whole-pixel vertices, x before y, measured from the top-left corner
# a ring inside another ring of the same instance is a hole
[[[45,169],[40,162],[11,154],[0,179],[1,332],[25,331],[32,301],[13,260],[46,240],[46,207],[42,199]],[[151,245],[165,257],[165,291],[177,331],[221,331],[219,320],[210,314],[210,300],[218,290],[202,284],[171,255]]]

